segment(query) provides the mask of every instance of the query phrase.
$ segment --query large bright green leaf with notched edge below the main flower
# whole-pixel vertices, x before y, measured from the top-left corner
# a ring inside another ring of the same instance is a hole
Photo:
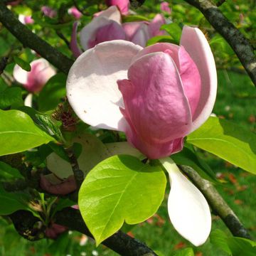
[[[82,218],[96,244],[127,224],[137,224],[156,213],[164,199],[166,176],[159,166],[143,164],[134,156],[112,156],[87,174],[79,191]]]

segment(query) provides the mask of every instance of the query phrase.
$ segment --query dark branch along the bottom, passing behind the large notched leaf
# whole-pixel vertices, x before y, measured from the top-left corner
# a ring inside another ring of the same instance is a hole
[[[38,240],[44,237],[43,230],[38,218],[26,210],[18,210],[9,216],[14,223],[18,233],[28,240]],[[36,225],[37,223],[37,225]],[[79,210],[73,208],[65,208],[55,214],[55,223],[63,225],[70,230],[77,230],[80,233],[88,235],[92,238],[92,234],[88,230]],[[110,238],[107,238],[103,245],[109,247],[119,255],[124,256],[157,256],[156,253],[147,247],[144,243],[137,239],[131,238],[129,235],[118,231]]]

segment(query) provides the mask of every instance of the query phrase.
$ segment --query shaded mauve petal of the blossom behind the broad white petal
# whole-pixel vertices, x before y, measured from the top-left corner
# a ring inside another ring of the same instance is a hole
[[[119,23],[115,21],[109,21],[105,26],[102,26],[97,29],[93,38],[90,38],[88,41],[88,47],[92,48],[98,43],[105,41],[112,41],[117,39],[125,39],[124,30]]]

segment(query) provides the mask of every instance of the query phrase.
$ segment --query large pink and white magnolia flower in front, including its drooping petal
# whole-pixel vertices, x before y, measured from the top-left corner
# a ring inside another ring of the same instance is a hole
[[[188,26],[183,28],[180,46],[100,43],[80,55],[67,81],[68,100],[82,121],[125,132],[149,159],[181,151],[183,137],[210,116],[216,90],[208,41],[198,28]],[[171,179],[171,222],[184,238],[201,245],[210,233],[208,204],[177,169],[169,164],[165,168]],[[186,218],[178,218],[180,210],[185,210],[181,216]]]

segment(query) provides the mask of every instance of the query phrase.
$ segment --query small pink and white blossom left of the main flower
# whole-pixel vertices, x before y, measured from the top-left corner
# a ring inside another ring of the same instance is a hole
[[[28,92],[39,92],[49,78],[55,75],[55,70],[47,60],[40,58],[31,62],[31,71],[23,70],[19,65],[14,66],[14,78]]]

